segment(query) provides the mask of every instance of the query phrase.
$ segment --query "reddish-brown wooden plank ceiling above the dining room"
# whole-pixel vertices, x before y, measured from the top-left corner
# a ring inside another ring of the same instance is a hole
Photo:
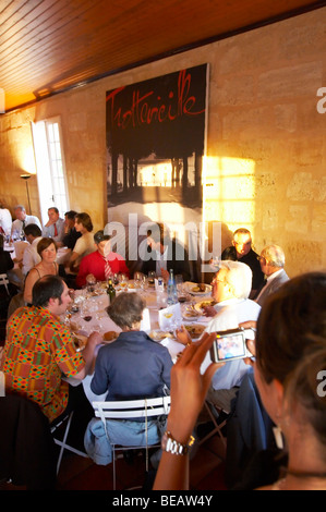
[[[5,110],[323,4],[310,0],[0,0],[0,87]]]

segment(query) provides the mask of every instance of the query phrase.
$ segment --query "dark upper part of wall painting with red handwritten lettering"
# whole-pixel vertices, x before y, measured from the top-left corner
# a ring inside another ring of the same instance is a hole
[[[202,206],[207,64],[106,94],[108,207]]]

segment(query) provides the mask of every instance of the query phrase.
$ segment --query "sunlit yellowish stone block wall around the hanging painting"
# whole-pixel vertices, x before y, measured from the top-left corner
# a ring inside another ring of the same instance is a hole
[[[26,204],[19,176],[33,153],[31,121],[60,115],[70,207],[102,228],[106,90],[207,62],[203,219],[221,221],[228,241],[230,231],[247,227],[257,252],[281,245],[291,277],[326,269],[326,113],[316,108],[317,90],[326,87],[325,20],[326,8],[318,9],[1,115],[0,199],[10,208]],[[35,178],[29,191],[37,215]],[[162,220],[202,220],[198,211],[170,211],[160,205]],[[109,216],[114,219],[114,210]]]

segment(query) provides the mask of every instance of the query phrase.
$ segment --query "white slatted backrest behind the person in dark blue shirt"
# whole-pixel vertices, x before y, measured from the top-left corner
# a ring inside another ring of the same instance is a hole
[[[170,397],[155,399],[124,400],[111,402],[93,402],[95,416],[105,419],[132,419],[141,417],[168,415],[170,412]]]

